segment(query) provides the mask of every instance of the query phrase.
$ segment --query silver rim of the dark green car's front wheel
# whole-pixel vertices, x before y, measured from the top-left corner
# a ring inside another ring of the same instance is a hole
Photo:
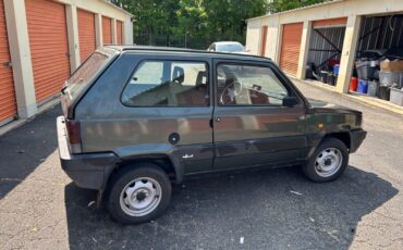
[[[315,171],[321,177],[334,175],[343,164],[343,154],[339,149],[329,148],[321,151],[315,161]]]

